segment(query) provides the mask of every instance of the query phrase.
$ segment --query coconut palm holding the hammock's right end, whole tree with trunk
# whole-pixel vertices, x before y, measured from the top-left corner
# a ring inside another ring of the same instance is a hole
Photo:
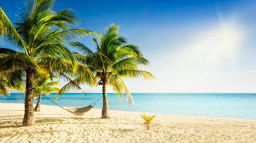
[[[138,65],[149,63],[143,56],[137,45],[128,43],[124,36],[118,34],[120,25],[114,24],[106,27],[99,41],[93,37],[96,45],[96,52],[91,51],[79,42],[71,42],[70,45],[78,48],[83,55],[74,53],[76,60],[83,65],[87,65],[95,73],[97,85],[102,85],[103,107],[102,118],[109,118],[108,98],[106,87],[109,86],[118,93],[122,102],[122,95],[128,100],[129,105],[133,105],[133,99],[125,86],[122,78],[155,79],[150,72],[141,71]]]

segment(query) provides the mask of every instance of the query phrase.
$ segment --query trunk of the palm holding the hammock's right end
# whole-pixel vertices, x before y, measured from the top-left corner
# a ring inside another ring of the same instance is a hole
[[[105,94],[105,95],[103,96],[103,107],[102,107],[102,112],[101,112],[101,118],[109,118],[109,106],[108,106],[106,87],[107,87],[107,83],[103,82],[102,94],[103,95]]]

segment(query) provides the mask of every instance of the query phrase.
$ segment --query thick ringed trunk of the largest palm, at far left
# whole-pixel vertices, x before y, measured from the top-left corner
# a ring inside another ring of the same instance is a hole
[[[27,68],[27,78],[26,78],[26,93],[25,93],[25,114],[23,118],[23,126],[34,126],[35,125],[35,116],[33,112],[33,70]]]

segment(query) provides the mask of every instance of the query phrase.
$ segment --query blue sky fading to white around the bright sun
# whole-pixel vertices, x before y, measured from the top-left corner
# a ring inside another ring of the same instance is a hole
[[[0,7],[13,23],[25,6],[1,0]],[[256,93],[255,0],[56,0],[54,11],[68,8],[80,16],[77,28],[102,33],[121,25],[120,34],[141,47],[150,65],[139,69],[156,80],[123,79],[131,93]],[[91,36],[80,42],[95,50]]]

